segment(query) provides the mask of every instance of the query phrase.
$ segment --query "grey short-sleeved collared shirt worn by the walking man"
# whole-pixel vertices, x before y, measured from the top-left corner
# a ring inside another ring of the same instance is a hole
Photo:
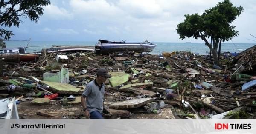
[[[104,83],[102,83],[101,89],[99,85],[96,83],[96,80],[93,80],[87,84],[82,96],[86,97],[86,104],[89,113],[96,110],[102,113],[104,92]]]

